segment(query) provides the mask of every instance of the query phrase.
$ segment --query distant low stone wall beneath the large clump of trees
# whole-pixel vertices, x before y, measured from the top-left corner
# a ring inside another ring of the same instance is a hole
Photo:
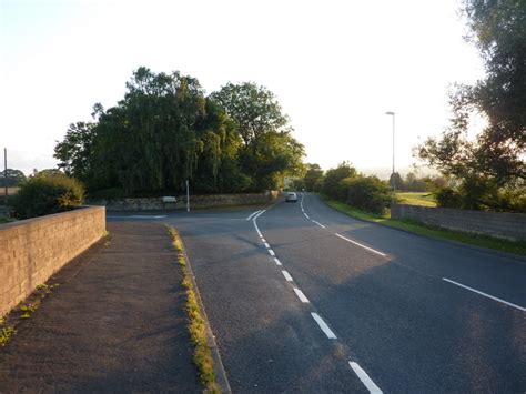
[[[220,208],[232,205],[264,204],[276,199],[279,192],[249,194],[190,195],[190,209]],[[104,205],[108,212],[119,211],[172,211],[186,208],[186,196],[176,196],[176,202],[163,202],[162,198],[121,199],[92,201],[93,205]]]

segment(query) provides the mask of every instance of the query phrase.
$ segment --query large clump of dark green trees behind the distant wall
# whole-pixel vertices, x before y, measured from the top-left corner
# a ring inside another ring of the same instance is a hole
[[[90,195],[182,192],[186,180],[194,192],[261,191],[302,170],[303,145],[277,101],[251,83],[205,97],[195,78],[142,67],[123,100],[92,115],[70,125],[54,154]]]

